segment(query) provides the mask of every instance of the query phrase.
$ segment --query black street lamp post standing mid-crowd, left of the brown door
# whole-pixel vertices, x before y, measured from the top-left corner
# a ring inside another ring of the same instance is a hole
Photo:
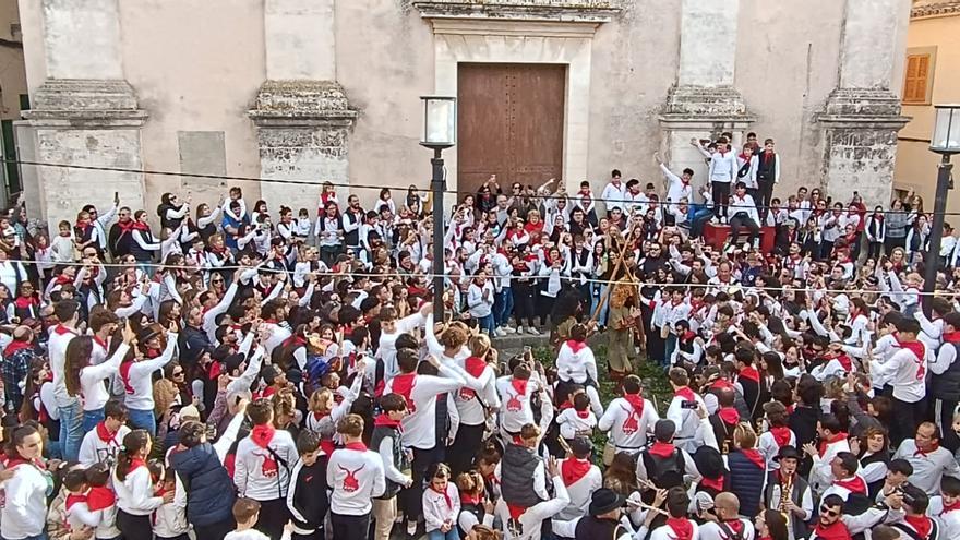
[[[433,177],[430,190],[433,197],[433,320],[443,321],[444,245],[443,194],[446,182],[443,173],[443,151],[457,144],[457,98],[421,96],[423,100],[422,146],[433,151],[430,165]]]

